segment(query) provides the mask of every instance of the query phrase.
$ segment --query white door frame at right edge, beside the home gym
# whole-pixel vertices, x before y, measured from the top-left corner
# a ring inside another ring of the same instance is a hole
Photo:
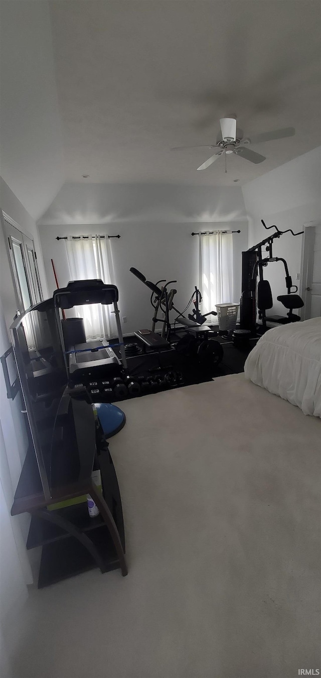
[[[299,293],[304,302],[301,308],[301,320],[307,320],[311,316],[312,276],[314,266],[314,243],[316,240],[316,226],[320,221],[310,221],[303,224],[304,233],[301,250],[301,273]],[[307,289],[307,288],[310,289]]]

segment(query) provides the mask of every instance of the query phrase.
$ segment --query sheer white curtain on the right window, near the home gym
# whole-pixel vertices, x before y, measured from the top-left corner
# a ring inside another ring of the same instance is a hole
[[[199,235],[199,284],[202,313],[215,311],[215,304],[233,301],[232,232]]]

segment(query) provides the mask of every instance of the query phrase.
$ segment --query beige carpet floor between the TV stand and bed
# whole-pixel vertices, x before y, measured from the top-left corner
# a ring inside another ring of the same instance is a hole
[[[14,678],[320,669],[320,420],[241,374],[121,407],[129,575],[31,590]]]

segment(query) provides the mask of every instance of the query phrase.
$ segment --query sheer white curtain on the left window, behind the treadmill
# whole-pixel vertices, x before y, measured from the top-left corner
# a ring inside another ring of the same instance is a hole
[[[98,235],[64,241],[70,268],[70,280],[101,279],[114,285],[114,266],[109,239]],[[114,316],[110,315],[112,306],[87,304],[74,306],[66,315],[83,318],[87,339],[110,338],[114,335]]]

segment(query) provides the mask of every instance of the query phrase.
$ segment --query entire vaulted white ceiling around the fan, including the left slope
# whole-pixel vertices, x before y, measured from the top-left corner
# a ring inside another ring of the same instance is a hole
[[[64,182],[240,186],[320,145],[320,0],[0,5],[1,174],[36,218]],[[228,115],[296,134],[227,174],[170,150],[215,143]]]

